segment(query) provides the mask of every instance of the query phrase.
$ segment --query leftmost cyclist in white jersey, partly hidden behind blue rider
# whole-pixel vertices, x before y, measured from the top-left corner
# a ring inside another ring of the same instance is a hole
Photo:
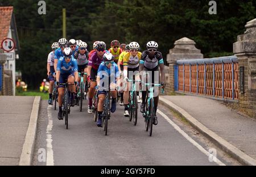
[[[55,73],[54,70],[54,52],[55,50],[59,48],[58,43],[52,44],[52,52],[48,54],[48,60],[47,60],[47,75],[49,79],[49,100],[48,104],[52,104],[52,91],[53,91],[53,85],[54,85],[54,76]]]

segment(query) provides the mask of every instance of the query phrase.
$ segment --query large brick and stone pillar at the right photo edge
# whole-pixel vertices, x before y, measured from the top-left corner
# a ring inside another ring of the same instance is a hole
[[[233,44],[239,67],[238,99],[240,111],[256,119],[256,19],[247,22],[245,28]]]

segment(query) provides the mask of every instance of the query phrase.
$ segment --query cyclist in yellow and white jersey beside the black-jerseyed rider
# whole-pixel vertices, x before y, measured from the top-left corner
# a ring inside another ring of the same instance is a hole
[[[130,80],[139,81],[139,60],[141,60],[141,52],[139,52],[139,44],[137,42],[131,42],[129,44],[130,52],[127,52],[125,56],[123,56],[123,77],[124,81]],[[128,100],[129,100],[129,86],[130,83],[127,84],[125,88],[125,92],[123,94],[123,103],[125,105],[125,113],[123,114],[125,117],[129,117],[128,111]],[[139,90],[139,89],[137,89]]]

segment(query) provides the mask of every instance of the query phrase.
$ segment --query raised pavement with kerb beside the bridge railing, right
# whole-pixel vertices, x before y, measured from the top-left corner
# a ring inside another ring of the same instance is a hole
[[[160,103],[179,113],[244,165],[256,165],[256,120],[223,102],[200,96],[160,96]]]

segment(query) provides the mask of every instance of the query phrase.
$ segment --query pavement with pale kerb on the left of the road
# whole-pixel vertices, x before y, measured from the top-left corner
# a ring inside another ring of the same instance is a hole
[[[0,96],[0,165],[19,165],[26,159],[24,150],[32,151],[36,133],[35,100],[37,96]],[[33,113],[34,112],[34,113]],[[32,122],[31,120],[34,120]],[[30,145],[30,146],[28,146]],[[21,158],[22,154],[24,158]],[[29,163],[31,159],[29,159]],[[28,164],[29,165],[29,164]]]

